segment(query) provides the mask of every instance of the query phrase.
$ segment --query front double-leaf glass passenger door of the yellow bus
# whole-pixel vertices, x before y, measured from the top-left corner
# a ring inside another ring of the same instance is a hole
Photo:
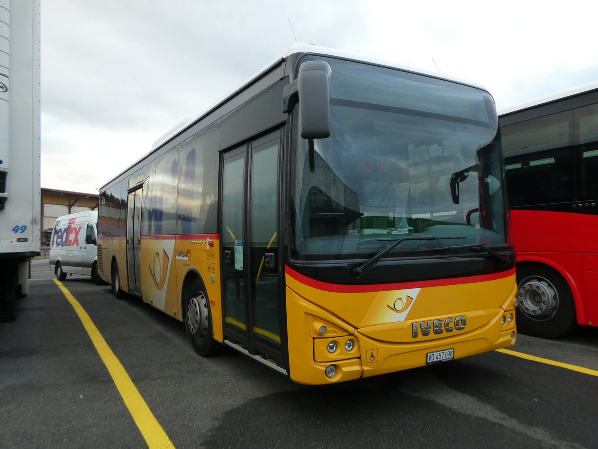
[[[226,339],[283,361],[277,250],[280,131],[224,154],[222,298]]]

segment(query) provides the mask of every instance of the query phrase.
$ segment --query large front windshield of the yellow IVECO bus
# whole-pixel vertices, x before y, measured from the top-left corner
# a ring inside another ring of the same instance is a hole
[[[504,244],[504,174],[491,96],[410,72],[326,60],[331,136],[315,139],[312,154],[294,114],[291,258],[371,257],[405,236],[435,239],[409,239],[387,257]]]

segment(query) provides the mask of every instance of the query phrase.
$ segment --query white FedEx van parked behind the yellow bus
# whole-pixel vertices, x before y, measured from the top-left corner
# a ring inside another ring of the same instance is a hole
[[[83,211],[56,219],[50,241],[50,268],[59,281],[66,274],[97,276],[97,211]]]

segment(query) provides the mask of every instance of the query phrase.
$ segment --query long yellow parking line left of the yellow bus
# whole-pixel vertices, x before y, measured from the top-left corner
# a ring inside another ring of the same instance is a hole
[[[106,365],[108,372],[112,376],[112,380],[123,398],[124,404],[129,409],[129,412],[148,447],[174,448],[175,446],[172,444],[172,441],[170,441],[170,438],[166,435],[166,432],[164,432],[164,429],[160,423],[158,423],[158,420],[155,418],[148,405],[145,404],[144,398],[139,394],[139,391],[137,390],[137,387],[135,387],[135,384],[133,384],[129,374],[127,374],[123,365],[118,361],[100,331],[97,330],[96,325],[91,321],[87,312],[59,280],[54,279],[54,282],[59,289],[62,290],[66,299],[71,303],[79,316],[81,323],[83,323],[83,327],[87,330],[91,342],[93,342],[102,362],[104,362],[104,365]]]

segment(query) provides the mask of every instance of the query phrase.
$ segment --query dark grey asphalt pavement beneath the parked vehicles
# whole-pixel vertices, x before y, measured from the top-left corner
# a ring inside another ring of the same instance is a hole
[[[0,446],[147,447],[53,278],[34,261],[17,320],[0,323]],[[512,348],[589,374],[492,351],[309,387],[230,350],[199,357],[179,321],[89,277],[63,285],[176,448],[598,447],[598,328]]]

